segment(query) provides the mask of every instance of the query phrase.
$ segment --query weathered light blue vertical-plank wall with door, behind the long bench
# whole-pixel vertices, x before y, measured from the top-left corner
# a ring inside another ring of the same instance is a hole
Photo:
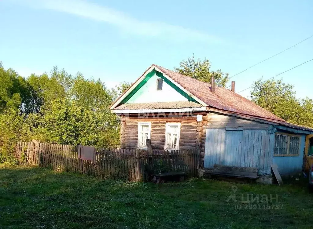
[[[259,174],[271,173],[275,134],[268,130],[207,129],[204,167],[214,164],[257,167]]]

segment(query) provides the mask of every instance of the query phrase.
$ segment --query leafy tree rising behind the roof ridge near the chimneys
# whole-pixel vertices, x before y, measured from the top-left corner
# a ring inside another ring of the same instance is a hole
[[[198,79],[202,82],[210,83],[211,76],[214,76],[215,84],[220,87],[226,87],[228,82],[228,73],[224,74],[221,69],[211,71],[211,62],[208,59],[201,61],[195,60],[194,55],[187,60],[183,60],[179,64],[179,68],[175,67],[174,70],[180,74],[190,76],[193,79]]]

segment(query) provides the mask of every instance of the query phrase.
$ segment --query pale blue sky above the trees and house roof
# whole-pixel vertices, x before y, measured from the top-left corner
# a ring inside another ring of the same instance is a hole
[[[194,53],[232,76],[313,35],[312,12],[309,0],[0,0],[0,60],[25,77],[57,65],[112,87]],[[310,38],[232,80],[238,92],[312,58]],[[278,79],[313,99],[312,69],[313,61]]]

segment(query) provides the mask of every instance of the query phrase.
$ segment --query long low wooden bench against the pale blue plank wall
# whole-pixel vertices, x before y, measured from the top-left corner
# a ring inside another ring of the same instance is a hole
[[[258,178],[259,168],[214,165],[212,169],[203,169],[204,176],[228,176],[238,178]]]

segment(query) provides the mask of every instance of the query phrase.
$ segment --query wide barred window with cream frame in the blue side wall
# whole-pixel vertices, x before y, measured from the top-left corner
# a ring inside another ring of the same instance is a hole
[[[299,155],[299,148],[299,136],[275,134],[274,155]]]

